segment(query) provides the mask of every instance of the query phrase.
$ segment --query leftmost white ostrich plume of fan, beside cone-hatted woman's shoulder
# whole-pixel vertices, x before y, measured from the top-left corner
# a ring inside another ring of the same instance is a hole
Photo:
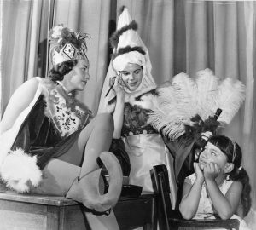
[[[193,99],[191,94],[191,85],[189,77],[180,73],[172,80],[172,84],[166,84],[166,87],[158,89],[158,105],[154,106],[154,111],[150,114],[148,123],[154,129],[162,131],[172,140],[177,139],[184,133],[184,124],[190,124],[190,114],[188,110],[190,101]],[[186,87],[187,86],[187,87]]]

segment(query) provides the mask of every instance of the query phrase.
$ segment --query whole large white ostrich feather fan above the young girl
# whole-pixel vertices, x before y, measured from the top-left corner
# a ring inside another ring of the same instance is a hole
[[[245,99],[245,85],[231,78],[221,81],[205,69],[196,78],[177,74],[158,94],[159,106],[148,122],[175,141],[183,134],[215,131],[219,125],[229,124]]]

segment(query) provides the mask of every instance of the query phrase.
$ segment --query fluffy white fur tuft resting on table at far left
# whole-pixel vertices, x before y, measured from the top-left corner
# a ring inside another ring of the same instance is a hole
[[[22,149],[9,152],[0,169],[1,177],[7,187],[18,193],[29,192],[29,181],[37,187],[42,180],[42,171],[37,165],[37,157],[26,154]]]

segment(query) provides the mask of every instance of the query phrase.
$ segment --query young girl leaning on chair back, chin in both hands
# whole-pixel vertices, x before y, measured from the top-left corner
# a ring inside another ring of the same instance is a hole
[[[236,218],[241,221],[240,229],[248,229],[241,217],[250,209],[251,187],[241,158],[235,141],[224,135],[209,138],[199,162],[194,163],[195,174],[184,181],[179,205],[184,219]]]

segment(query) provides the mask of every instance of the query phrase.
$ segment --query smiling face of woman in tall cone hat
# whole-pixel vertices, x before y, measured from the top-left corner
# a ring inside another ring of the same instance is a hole
[[[120,71],[125,87],[130,91],[136,90],[143,80],[143,67],[128,63],[123,71]]]

